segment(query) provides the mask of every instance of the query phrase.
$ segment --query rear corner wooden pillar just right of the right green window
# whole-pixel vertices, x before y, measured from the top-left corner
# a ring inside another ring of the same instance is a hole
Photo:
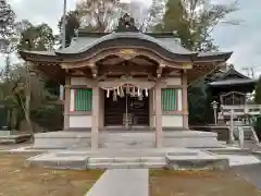
[[[182,100],[183,100],[183,127],[188,128],[188,100],[187,100],[187,72],[182,75]]]

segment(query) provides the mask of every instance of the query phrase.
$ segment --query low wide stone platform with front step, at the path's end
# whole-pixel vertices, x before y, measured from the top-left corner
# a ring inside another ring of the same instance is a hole
[[[27,159],[29,166],[52,169],[171,169],[224,170],[228,160],[204,150],[186,148],[59,150]]]

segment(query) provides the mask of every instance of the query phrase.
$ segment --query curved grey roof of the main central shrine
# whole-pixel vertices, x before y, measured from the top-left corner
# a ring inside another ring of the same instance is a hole
[[[190,61],[201,60],[220,60],[226,61],[232,52],[196,52],[184,48],[172,33],[164,34],[142,34],[138,32],[121,32],[121,33],[80,33],[78,37],[72,39],[71,45],[64,49],[55,51],[28,51],[22,50],[20,54],[26,59],[26,56],[36,54],[44,58],[62,58],[66,59],[72,54],[94,53],[102,48],[110,47],[146,47],[154,49],[157,52],[164,54],[167,58],[175,59],[185,57]],[[79,58],[79,56],[74,56]]]

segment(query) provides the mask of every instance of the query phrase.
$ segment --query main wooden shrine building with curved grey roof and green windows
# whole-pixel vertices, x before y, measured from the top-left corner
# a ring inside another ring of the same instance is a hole
[[[132,24],[113,33],[78,32],[55,51],[20,51],[32,69],[64,85],[64,131],[144,128],[187,131],[187,87],[221,66],[232,52],[185,49],[172,33],[140,33]],[[200,111],[199,111],[200,112]]]

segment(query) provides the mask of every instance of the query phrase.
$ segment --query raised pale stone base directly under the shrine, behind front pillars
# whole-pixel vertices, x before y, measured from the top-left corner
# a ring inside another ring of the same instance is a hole
[[[167,131],[163,147],[214,148],[223,143],[217,134],[199,131]],[[90,148],[90,132],[51,132],[35,134],[35,148]],[[154,132],[100,132],[99,148],[154,148]]]

